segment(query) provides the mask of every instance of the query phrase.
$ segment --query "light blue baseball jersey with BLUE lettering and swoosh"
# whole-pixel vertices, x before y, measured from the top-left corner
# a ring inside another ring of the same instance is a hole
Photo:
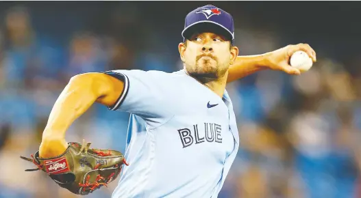
[[[113,198],[217,197],[239,145],[223,99],[184,70],[114,70],[124,91],[112,110],[131,113],[124,166]]]

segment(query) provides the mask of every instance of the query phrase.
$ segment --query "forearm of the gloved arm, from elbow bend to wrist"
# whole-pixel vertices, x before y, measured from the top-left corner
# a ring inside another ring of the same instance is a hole
[[[51,110],[42,141],[64,139],[69,126],[99,98],[92,86],[90,79],[71,79]]]

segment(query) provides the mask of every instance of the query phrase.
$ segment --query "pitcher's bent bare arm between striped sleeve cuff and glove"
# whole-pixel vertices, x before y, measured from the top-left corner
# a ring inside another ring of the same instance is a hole
[[[108,74],[87,73],[71,78],[51,110],[42,133],[39,156],[49,158],[64,153],[68,147],[65,133],[75,119],[95,102],[112,107],[123,87],[123,82]]]

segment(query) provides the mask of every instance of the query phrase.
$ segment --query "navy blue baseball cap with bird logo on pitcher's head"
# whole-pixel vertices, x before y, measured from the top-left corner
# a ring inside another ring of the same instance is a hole
[[[221,34],[234,42],[233,17],[228,12],[214,5],[205,5],[188,13],[182,36],[184,41],[195,32],[210,31]]]

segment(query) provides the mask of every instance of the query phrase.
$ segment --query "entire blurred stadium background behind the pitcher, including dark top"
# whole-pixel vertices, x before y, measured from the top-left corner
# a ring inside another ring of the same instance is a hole
[[[213,4],[233,14],[240,55],[306,42],[301,76],[264,71],[227,86],[240,148],[219,197],[360,197],[361,14],[351,2],[121,1],[0,3],[0,197],[78,197],[18,158],[38,150],[71,76],[182,68],[184,17]],[[125,149],[128,114],[95,105],[68,141]],[[87,197],[110,197],[117,182]]]

